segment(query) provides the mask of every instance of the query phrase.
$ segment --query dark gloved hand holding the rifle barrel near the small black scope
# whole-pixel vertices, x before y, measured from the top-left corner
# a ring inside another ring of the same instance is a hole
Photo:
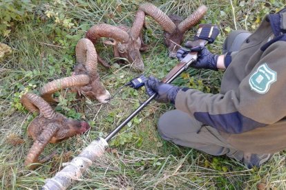
[[[162,83],[158,80],[158,78],[155,78],[154,76],[149,76],[145,83],[145,87],[149,96],[152,96],[154,93],[158,94],[155,96],[155,100],[160,103],[171,102],[175,104],[175,96],[177,96],[177,93],[180,90],[180,87]]]

